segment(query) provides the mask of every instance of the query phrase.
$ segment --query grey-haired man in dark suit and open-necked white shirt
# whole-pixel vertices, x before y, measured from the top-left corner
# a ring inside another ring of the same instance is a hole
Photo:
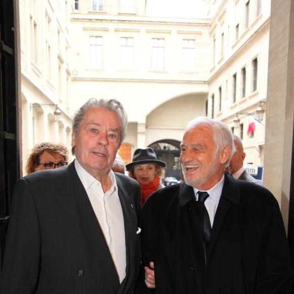
[[[19,179],[12,198],[1,294],[130,294],[141,262],[140,187],[111,166],[127,114],[90,99],[72,121],[68,166]]]

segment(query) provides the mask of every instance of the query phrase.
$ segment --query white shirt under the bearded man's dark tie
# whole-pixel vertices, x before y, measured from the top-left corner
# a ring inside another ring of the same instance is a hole
[[[213,220],[214,220],[215,212],[216,212],[218,202],[220,199],[220,195],[222,195],[224,182],[225,182],[225,175],[214,187],[212,187],[209,190],[206,190],[206,192],[209,194],[209,197],[205,200],[204,205],[209,215],[211,227],[213,226]],[[195,193],[195,200],[198,201],[198,194],[197,194],[198,191],[201,191],[201,192],[204,192],[204,191],[199,190],[197,188],[193,188],[193,190]]]

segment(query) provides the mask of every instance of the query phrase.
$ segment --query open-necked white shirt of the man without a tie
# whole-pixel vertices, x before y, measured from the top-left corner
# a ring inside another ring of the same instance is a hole
[[[75,167],[104,234],[120,282],[122,282],[126,276],[125,226],[115,174],[112,170],[109,171],[108,175],[111,178],[112,185],[104,193],[100,181],[90,175],[77,159],[75,160]]]

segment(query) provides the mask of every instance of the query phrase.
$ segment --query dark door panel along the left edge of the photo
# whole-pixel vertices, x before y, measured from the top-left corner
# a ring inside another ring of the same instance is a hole
[[[9,207],[20,176],[20,107],[17,0],[0,0],[0,258],[3,261]]]

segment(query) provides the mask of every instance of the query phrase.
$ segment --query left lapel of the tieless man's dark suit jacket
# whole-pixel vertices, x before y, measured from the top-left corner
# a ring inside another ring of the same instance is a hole
[[[57,201],[71,219],[73,226],[80,230],[81,236],[84,237],[92,264],[97,265],[97,270],[101,271],[108,284],[114,290],[117,289],[119,277],[111,253],[73,162],[65,169],[64,187],[64,197]]]

